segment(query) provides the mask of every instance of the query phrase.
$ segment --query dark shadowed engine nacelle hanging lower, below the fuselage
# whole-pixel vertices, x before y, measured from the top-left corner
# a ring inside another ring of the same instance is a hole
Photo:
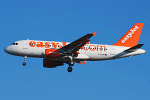
[[[54,68],[57,66],[63,66],[63,62],[55,61],[51,59],[43,59],[43,67]]]

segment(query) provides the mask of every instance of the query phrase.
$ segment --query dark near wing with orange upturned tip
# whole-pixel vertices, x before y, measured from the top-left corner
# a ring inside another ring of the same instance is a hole
[[[87,44],[90,41],[89,39],[93,35],[96,35],[96,33],[97,32],[87,34],[87,35],[71,42],[70,44],[60,48],[59,50],[62,54],[65,54],[65,55],[76,53],[81,47],[83,47],[85,44]]]

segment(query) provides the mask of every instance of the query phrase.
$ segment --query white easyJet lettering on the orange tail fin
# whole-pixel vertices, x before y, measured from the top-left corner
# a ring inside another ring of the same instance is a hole
[[[124,37],[124,39],[121,41],[122,43],[125,43],[129,38],[133,36],[133,34],[139,29],[137,25],[133,29],[130,29],[129,33]]]

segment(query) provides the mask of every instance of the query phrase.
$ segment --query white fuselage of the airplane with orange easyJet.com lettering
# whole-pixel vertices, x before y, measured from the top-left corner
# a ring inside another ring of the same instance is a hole
[[[46,49],[59,49],[69,42],[54,42],[54,41],[37,41],[37,40],[21,40],[13,43],[5,48],[5,52],[16,56],[28,56],[47,58]],[[78,51],[78,56],[73,58],[77,61],[98,61],[129,57],[145,53],[145,50],[138,49],[134,52],[124,52],[129,47],[101,45],[101,44],[86,44]],[[50,58],[55,60],[67,61],[68,58]]]

